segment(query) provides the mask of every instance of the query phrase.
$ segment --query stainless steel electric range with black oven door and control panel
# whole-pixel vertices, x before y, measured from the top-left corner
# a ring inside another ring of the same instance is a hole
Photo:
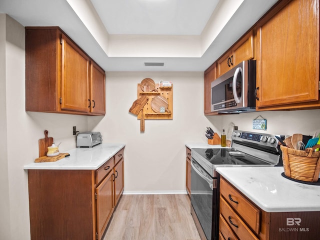
[[[278,140],[272,134],[236,130],[230,148],[191,149],[191,214],[202,240],[218,239],[221,166],[281,165]]]

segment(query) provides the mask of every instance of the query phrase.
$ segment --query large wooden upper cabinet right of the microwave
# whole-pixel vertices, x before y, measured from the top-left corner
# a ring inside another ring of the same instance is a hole
[[[257,109],[320,106],[319,0],[281,1],[257,23]]]

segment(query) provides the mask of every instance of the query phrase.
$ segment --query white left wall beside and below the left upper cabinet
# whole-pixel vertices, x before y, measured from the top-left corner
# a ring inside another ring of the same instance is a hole
[[[61,150],[75,147],[72,126],[87,130],[87,116],[25,112],[24,27],[0,14],[0,239],[29,239],[27,172],[47,129]]]

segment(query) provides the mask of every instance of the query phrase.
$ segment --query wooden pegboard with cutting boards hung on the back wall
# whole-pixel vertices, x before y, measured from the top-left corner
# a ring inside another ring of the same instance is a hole
[[[144,119],[173,118],[173,84],[154,83],[144,78],[137,84],[137,99],[129,112],[140,119],[140,131],[144,131]]]

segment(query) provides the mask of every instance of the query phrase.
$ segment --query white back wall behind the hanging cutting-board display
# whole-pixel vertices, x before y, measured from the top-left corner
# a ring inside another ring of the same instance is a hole
[[[140,121],[128,112],[137,98],[137,83],[150,77],[173,83],[173,119]],[[206,141],[205,127],[220,127],[203,115],[203,72],[108,72],[106,116],[88,118],[88,128],[102,132],[105,142],[123,142],[124,191],[185,193],[186,142]],[[92,122],[91,122],[92,121]]]

